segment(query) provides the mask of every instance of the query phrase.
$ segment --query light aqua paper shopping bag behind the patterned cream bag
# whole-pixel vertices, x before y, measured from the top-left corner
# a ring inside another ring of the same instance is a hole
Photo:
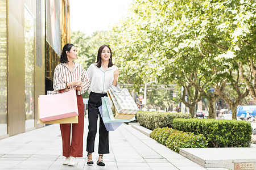
[[[102,102],[102,120],[104,123],[112,123],[112,122],[130,122],[134,121],[135,117],[130,118],[130,119],[117,119],[114,118],[111,105],[109,103],[110,99],[109,97],[101,97],[101,102]]]

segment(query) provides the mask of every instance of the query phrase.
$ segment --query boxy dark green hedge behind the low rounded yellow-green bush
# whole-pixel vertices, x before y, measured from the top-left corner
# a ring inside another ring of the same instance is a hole
[[[174,129],[204,134],[209,147],[250,147],[251,125],[246,121],[176,118]]]

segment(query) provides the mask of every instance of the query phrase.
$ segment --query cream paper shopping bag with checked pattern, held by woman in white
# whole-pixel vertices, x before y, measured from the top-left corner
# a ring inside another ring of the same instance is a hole
[[[122,88],[121,92],[115,92],[112,88],[108,90],[112,102],[118,114],[136,114],[139,111],[127,88]],[[119,118],[114,115],[115,118]]]

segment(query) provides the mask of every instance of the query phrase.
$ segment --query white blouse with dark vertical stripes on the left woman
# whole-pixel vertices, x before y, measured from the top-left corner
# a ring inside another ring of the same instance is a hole
[[[75,63],[73,71],[68,69],[68,65],[66,63],[60,63],[55,67],[54,76],[53,76],[53,88],[55,90],[62,90],[66,87],[66,83],[74,82],[77,80],[82,81],[82,90],[81,92],[77,90],[77,95],[84,94],[86,90],[90,87],[90,82],[88,75],[84,69],[84,67],[79,64]],[[69,88],[73,88],[76,86],[70,86]]]

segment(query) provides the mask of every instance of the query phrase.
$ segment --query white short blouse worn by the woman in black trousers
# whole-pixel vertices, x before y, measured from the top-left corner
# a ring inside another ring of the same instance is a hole
[[[108,70],[104,71],[102,67],[98,68],[97,63],[93,63],[89,66],[87,74],[90,80],[90,87],[88,92],[95,92],[97,94],[106,94],[110,87],[114,91],[121,91],[118,84],[113,86],[114,81],[114,71],[117,66],[109,67]]]

